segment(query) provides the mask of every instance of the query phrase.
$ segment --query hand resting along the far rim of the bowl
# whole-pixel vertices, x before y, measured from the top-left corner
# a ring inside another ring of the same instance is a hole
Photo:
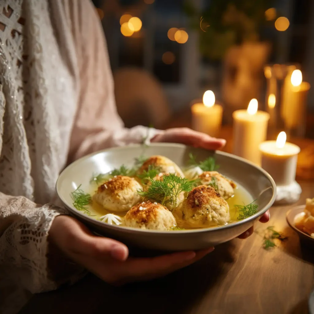
[[[204,149],[221,149],[225,146],[226,140],[213,138],[205,133],[193,131],[187,127],[173,128],[165,130],[164,133],[157,134],[151,142],[171,142],[200,147]]]

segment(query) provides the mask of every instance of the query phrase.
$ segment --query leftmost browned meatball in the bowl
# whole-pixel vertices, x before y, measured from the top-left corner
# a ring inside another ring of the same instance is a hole
[[[123,212],[141,201],[138,190],[142,187],[134,178],[115,176],[98,187],[93,199],[109,211]]]

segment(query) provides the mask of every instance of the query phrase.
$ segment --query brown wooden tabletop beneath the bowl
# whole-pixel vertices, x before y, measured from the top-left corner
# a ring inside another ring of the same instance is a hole
[[[302,194],[296,204],[273,206],[270,221],[258,222],[248,239],[221,244],[194,265],[119,288],[89,274],[73,286],[35,295],[20,313],[308,313],[314,246],[300,242],[285,218],[290,208],[314,197],[313,180],[299,183]],[[263,249],[268,226],[288,240]]]

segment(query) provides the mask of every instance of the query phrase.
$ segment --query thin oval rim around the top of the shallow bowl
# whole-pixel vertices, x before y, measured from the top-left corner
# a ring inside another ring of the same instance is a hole
[[[148,146],[155,146],[155,147],[165,147],[165,146],[169,146],[169,147],[180,147],[180,148],[187,148],[187,147],[191,147],[189,145],[185,145],[185,144],[180,144],[180,143],[150,143],[148,144]],[[214,154],[218,154],[218,155],[222,155],[222,156],[226,156],[226,157],[230,157],[232,159],[236,159],[239,160],[241,162],[244,162],[254,168],[256,168],[258,171],[262,172],[264,176],[266,176],[268,178],[268,180],[270,181],[272,188],[273,188],[273,196],[270,199],[270,201],[267,203],[266,206],[264,206],[261,210],[259,210],[257,213],[255,213],[254,215],[234,222],[232,224],[228,224],[228,225],[224,225],[221,227],[208,227],[208,228],[202,228],[202,229],[187,229],[187,230],[176,230],[176,232],[174,231],[164,231],[164,230],[146,230],[146,229],[139,229],[139,228],[132,228],[132,227],[125,227],[125,226],[118,226],[118,225],[110,225],[110,224],[105,224],[101,221],[98,221],[96,219],[93,219],[91,217],[89,217],[86,214],[83,214],[82,212],[80,212],[79,210],[77,210],[76,208],[73,207],[73,205],[68,205],[67,202],[65,201],[65,199],[62,197],[61,193],[59,193],[58,191],[58,185],[59,182],[62,180],[62,176],[65,175],[66,172],[70,171],[71,168],[73,168],[77,163],[82,162],[83,160],[86,160],[94,155],[100,154],[100,153],[104,153],[104,152],[108,152],[108,151],[119,151],[119,150],[123,150],[126,148],[143,148],[143,144],[129,144],[129,145],[124,145],[124,146],[118,146],[118,147],[111,147],[108,149],[102,149],[102,150],[98,150],[96,152],[90,153],[88,155],[85,155],[75,161],[73,161],[70,165],[68,165],[67,167],[65,167],[60,175],[58,176],[57,182],[56,182],[56,192],[57,192],[57,196],[58,198],[62,201],[63,205],[68,208],[68,210],[70,212],[74,212],[75,215],[79,215],[82,219],[92,223],[92,224],[96,224],[100,227],[106,227],[109,229],[114,229],[114,230],[123,230],[124,232],[141,232],[141,233],[155,233],[155,234],[162,234],[162,235],[166,235],[166,234],[172,234],[172,235],[180,235],[180,234],[186,234],[186,233],[202,233],[202,232],[210,232],[210,231],[216,231],[216,230],[223,230],[223,229],[229,229],[229,228],[233,228],[236,227],[238,225],[242,225],[245,224],[247,222],[250,222],[252,220],[255,220],[257,217],[261,216],[262,214],[264,214],[275,202],[276,199],[276,195],[277,195],[277,188],[276,188],[276,183],[273,180],[273,178],[270,176],[270,174],[268,172],[266,172],[263,168],[259,167],[258,165],[252,163],[249,160],[246,160],[245,158],[236,156],[234,154],[230,154],[230,153],[226,153],[223,151],[219,151],[219,150],[208,150],[208,152],[213,152]],[[195,148],[194,148],[195,149]],[[202,148],[201,148],[202,149]],[[203,149],[206,150],[206,149]],[[117,229],[118,228],[118,229]]]

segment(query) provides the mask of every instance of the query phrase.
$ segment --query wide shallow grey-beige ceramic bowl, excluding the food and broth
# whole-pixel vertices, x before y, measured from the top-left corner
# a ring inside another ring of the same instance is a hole
[[[134,164],[134,159],[143,153],[143,149],[142,145],[106,149],[73,162],[62,171],[56,184],[57,194],[64,206],[96,234],[109,236],[139,248],[182,251],[215,246],[239,236],[252,227],[275,200],[276,186],[272,177],[245,159],[224,152],[195,149],[182,144],[155,143],[145,148],[145,156],[163,155],[181,167],[187,166],[189,153],[196,155],[197,160],[204,160],[210,155],[214,156],[219,165],[219,172],[241,184],[253,199],[256,199],[258,212],[247,219],[222,227],[155,231],[109,225],[87,216],[73,207],[71,192],[80,184],[84,191],[90,191],[89,179],[93,173],[106,173],[122,164],[131,166]]]

